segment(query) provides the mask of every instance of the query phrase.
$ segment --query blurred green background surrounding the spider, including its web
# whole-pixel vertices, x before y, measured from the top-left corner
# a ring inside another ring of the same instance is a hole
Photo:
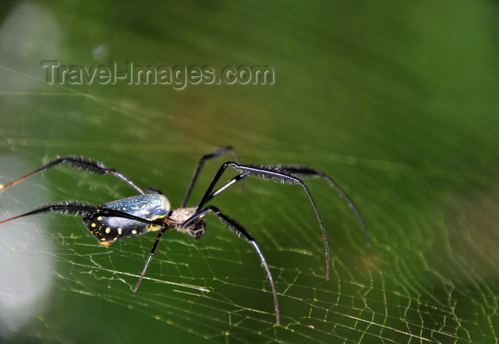
[[[319,225],[299,187],[248,178],[244,192],[213,201],[269,262],[275,326],[256,254],[215,217],[198,242],[166,233],[135,294],[154,234],[101,248],[78,218],[13,221],[0,226],[1,341],[498,342],[497,1],[4,1],[0,9],[0,183],[56,155],[83,155],[159,188],[175,207],[197,159],[232,145],[246,163],[328,173],[371,235],[368,246],[337,193],[310,181],[329,235],[326,281]],[[44,60],[272,66],[275,83],[61,86],[46,82]],[[191,202],[222,161],[206,164]],[[61,167],[1,192],[0,218],[131,195],[111,177]]]

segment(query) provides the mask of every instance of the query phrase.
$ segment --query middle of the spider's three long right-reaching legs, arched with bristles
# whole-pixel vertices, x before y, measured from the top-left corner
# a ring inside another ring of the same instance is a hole
[[[210,196],[212,194],[213,188],[215,187],[215,184],[220,179],[220,177],[222,176],[222,173],[225,171],[225,169],[227,169],[227,167],[234,168],[237,172],[240,173],[240,175],[254,176],[257,178],[264,179],[264,180],[277,181],[280,183],[299,184],[300,186],[302,186],[302,188],[304,188],[304,191],[307,193],[307,196],[309,197],[309,201],[310,201],[310,203],[312,203],[312,207],[314,208],[315,214],[317,216],[317,220],[319,221],[319,226],[321,226],[322,238],[324,238],[324,252],[325,252],[325,256],[326,256],[326,280],[329,280],[329,245],[327,242],[327,236],[326,236],[326,230],[324,228],[324,223],[322,223],[322,218],[319,214],[319,209],[317,208],[317,205],[315,204],[314,198],[312,198],[312,194],[310,193],[309,188],[307,187],[307,184],[305,184],[305,182],[302,181],[302,179],[298,178],[297,176],[294,176],[291,171],[289,171],[285,168],[282,168],[280,166],[242,165],[240,163],[227,161],[227,162],[223,163],[222,166],[220,166],[220,168],[218,169],[217,173],[215,173],[215,176],[213,177],[212,182],[210,183],[210,186],[208,186],[208,188],[205,192],[205,196],[203,196],[201,198],[200,203],[197,205],[197,211],[199,211],[200,208],[202,208],[202,206],[205,205],[207,200],[210,199]],[[236,178],[237,178],[237,176],[236,176]],[[228,183],[230,183],[230,181]],[[227,186],[227,188],[228,187],[229,186]],[[222,188],[223,188],[223,190],[225,190],[224,186],[222,186]],[[215,193],[216,192],[217,191],[215,191]]]

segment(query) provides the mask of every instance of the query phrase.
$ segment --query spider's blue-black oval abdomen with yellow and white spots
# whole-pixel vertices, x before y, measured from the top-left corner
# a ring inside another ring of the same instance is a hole
[[[99,208],[122,211],[149,221],[166,218],[170,212],[168,198],[160,194],[145,194],[103,203]],[[109,246],[123,238],[141,236],[150,231],[158,231],[160,226],[134,221],[118,216],[102,216],[92,213],[82,217],[83,224],[96,237],[99,244]]]

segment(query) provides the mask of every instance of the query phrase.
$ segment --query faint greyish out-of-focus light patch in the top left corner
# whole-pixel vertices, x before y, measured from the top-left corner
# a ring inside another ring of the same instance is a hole
[[[29,91],[40,86],[37,79],[46,78],[40,62],[61,55],[60,37],[61,30],[51,11],[28,1],[14,6],[0,26],[0,66],[14,73],[0,71],[0,90]]]

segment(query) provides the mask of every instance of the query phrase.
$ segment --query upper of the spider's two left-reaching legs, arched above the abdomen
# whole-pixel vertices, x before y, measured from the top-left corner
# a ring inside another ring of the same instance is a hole
[[[98,162],[98,161],[93,161],[89,158],[83,158],[81,156],[63,156],[63,157],[56,157],[53,161],[50,163],[47,163],[46,165],[41,166],[41,168],[38,168],[37,170],[26,174],[26,176],[22,176],[19,179],[16,179],[15,181],[11,181],[11,183],[8,183],[4,185],[3,187],[0,186],[0,190],[4,190],[6,188],[9,188],[10,186],[13,186],[16,183],[19,183],[20,181],[24,181],[24,179],[33,176],[36,173],[40,173],[41,171],[48,170],[50,168],[56,167],[60,165],[61,163],[66,163],[66,165],[73,167],[73,168],[78,168],[82,169],[85,171],[88,171],[90,173],[96,173],[101,176],[105,174],[112,174],[115,177],[120,178],[122,181],[127,183],[129,186],[135,189],[138,193],[145,194],[145,192],[139,188],[133,181],[130,181],[123,173],[116,171],[114,168],[107,168],[104,166],[103,163]]]

